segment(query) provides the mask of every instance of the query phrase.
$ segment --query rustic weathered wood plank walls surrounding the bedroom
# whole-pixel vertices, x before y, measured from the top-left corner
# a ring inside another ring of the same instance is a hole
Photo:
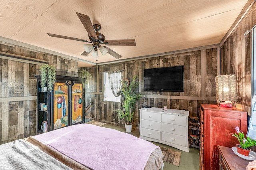
[[[220,47],[220,73],[237,75],[238,103],[251,105],[251,35],[243,34],[256,24],[256,3]],[[57,69],[77,71],[77,61],[0,42],[0,51],[47,61]],[[103,101],[103,72],[123,70],[123,78],[139,75],[140,91],[145,94],[136,108],[134,127],[139,127],[139,109],[142,105],[172,109],[185,109],[190,116],[197,115],[201,103],[216,104],[214,77],[217,75],[217,48],[200,49],[173,55],[152,57],[136,61],[86,68],[93,75],[86,87],[86,105],[94,102],[86,111],[87,117],[96,121],[124,126],[117,119],[114,109],[119,103]],[[144,92],[145,68],[184,65],[184,92]],[[40,64],[27,61],[0,59],[0,144],[36,134],[36,69]],[[84,68],[81,68],[84,69]],[[97,88],[98,87],[98,88]]]

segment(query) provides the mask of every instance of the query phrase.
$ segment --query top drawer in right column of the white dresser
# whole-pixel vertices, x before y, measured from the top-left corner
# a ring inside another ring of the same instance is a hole
[[[162,122],[174,125],[186,126],[186,117],[162,114]]]

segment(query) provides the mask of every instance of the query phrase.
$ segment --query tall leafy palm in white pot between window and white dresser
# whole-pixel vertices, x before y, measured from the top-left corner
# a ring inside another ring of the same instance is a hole
[[[125,127],[126,132],[132,131],[132,121],[134,119],[134,109],[137,101],[142,98],[142,94],[138,92],[140,82],[137,79],[137,75],[135,75],[128,86],[124,80],[122,81],[122,95],[124,95],[124,101],[122,102],[122,109],[115,109],[118,113],[118,116],[126,121]]]

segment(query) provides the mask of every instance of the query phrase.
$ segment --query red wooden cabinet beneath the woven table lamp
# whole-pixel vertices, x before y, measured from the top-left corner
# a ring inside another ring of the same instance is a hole
[[[224,108],[217,105],[200,106],[200,169],[217,170],[219,168],[218,145],[232,147],[238,144],[231,135],[234,128],[247,133],[247,112],[236,108]]]

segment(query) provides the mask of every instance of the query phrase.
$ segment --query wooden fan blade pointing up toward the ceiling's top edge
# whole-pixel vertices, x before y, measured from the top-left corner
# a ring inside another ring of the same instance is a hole
[[[86,29],[86,31],[88,32],[89,36],[95,40],[97,40],[97,35],[95,33],[95,30],[93,28],[92,22],[90,20],[90,17],[84,14],[80,14],[78,12],[76,12],[78,18],[80,19],[80,21],[82,22],[82,24],[84,25],[84,28]]]

